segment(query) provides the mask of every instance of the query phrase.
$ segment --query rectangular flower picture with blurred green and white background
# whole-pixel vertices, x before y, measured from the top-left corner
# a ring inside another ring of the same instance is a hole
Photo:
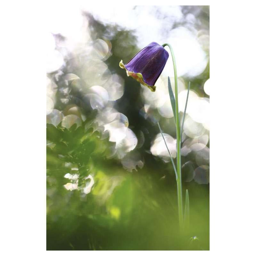
[[[47,250],[209,250],[209,17],[49,8]]]

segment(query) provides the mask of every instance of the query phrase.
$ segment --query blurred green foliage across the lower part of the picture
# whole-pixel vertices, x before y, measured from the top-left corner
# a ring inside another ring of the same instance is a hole
[[[104,156],[111,142],[85,126],[47,124],[47,140],[53,143],[47,146],[47,250],[207,250],[208,185],[184,186],[191,198],[191,225],[180,236],[174,180],[147,165],[139,172],[124,171]],[[64,188],[66,173],[79,173],[78,190]],[[90,173],[95,184],[83,197],[79,188]]]

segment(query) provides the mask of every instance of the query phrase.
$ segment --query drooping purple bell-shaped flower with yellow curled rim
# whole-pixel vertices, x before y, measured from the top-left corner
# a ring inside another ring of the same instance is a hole
[[[152,42],[138,52],[127,64],[120,61],[120,68],[125,68],[127,76],[132,76],[140,84],[156,91],[156,80],[162,73],[169,53],[163,46]]]

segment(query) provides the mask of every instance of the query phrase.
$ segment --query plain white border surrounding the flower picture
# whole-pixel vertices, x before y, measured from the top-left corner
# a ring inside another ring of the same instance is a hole
[[[190,2],[172,1],[172,4]],[[169,3],[136,1],[141,5]],[[45,251],[44,21],[47,8],[43,8],[44,4],[13,1],[5,2],[1,7],[1,250],[4,255],[4,251],[27,255],[37,255],[38,252],[70,254],[68,251]],[[127,3],[119,1],[119,4]],[[196,4],[209,2],[196,1]],[[210,7],[210,252],[158,253],[216,255],[236,252],[251,255],[249,252],[255,251],[253,36],[256,22],[254,8],[248,4],[247,1],[243,4],[233,2],[232,5],[215,1]],[[103,6],[99,5],[99,8]],[[81,253],[100,252],[72,252]],[[126,255],[131,252],[105,253]]]

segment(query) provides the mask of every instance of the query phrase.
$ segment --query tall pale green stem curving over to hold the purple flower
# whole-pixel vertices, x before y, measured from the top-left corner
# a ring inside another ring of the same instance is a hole
[[[179,121],[179,104],[178,104],[178,76],[176,61],[172,46],[170,44],[163,44],[168,46],[172,54],[173,70],[174,70],[174,86],[175,86],[175,114],[176,114],[176,139],[177,139],[177,194],[178,194],[178,210],[180,228],[183,227],[183,205],[182,205],[182,186],[181,186],[181,138],[180,138],[180,121]]]

